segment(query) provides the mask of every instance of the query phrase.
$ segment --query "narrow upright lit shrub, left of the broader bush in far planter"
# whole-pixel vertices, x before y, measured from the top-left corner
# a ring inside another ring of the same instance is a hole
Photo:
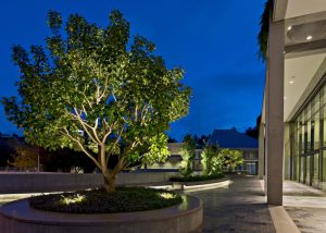
[[[184,145],[180,151],[183,158],[183,161],[180,162],[180,173],[187,177],[192,173],[192,161],[196,156],[196,142],[192,139],[190,134],[187,134],[184,137],[183,143]]]

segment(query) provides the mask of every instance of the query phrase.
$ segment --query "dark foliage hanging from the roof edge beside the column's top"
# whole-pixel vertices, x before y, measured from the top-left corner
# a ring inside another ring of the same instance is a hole
[[[267,0],[265,3],[264,11],[261,16],[261,29],[258,35],[259,41],[259,58],[263,61],[267,58],[267,47],[268,47],[268,32],[269,32],[269,19],[273,14],[274,0]]]

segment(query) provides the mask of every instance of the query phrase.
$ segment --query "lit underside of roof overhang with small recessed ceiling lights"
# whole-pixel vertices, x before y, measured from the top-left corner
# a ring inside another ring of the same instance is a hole
[[[286,122],[292,120],[326,73],[326,0],[274,0],[273,21],[284,21],[285,27]]]

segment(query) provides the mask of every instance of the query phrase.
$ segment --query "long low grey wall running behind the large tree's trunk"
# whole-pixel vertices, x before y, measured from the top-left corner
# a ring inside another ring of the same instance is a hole
[[[117,175],[116,184],[135,185],[167,182],[176,172],[127,172]],[[0,173],[0,194],[73,191],[99,187],[100,173]]]

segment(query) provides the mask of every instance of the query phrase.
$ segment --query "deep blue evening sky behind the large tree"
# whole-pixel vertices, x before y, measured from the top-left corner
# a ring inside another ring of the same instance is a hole
[[[0,96],[16,95],[17,69],[11,47],[43,45],[46,16],[79,13],[104,26],[112,9],[130,22],[131,33],[156,44],[168,66],[186,70],[192,87],[190,114],[171,125],[170,135],[244,131],[262,107],[264,66],[256,58],[256,34],[264,0],[10,0],[0,3]],[[15,133],[0,107],[0,132]]]

